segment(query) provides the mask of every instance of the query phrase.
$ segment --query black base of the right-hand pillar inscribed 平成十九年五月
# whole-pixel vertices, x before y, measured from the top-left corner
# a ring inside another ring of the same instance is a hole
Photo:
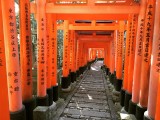
[[[143,120],[144,112],[147,110],[147,108],[143,108],[139,105],[136,106],[136,118],[137,120]]]

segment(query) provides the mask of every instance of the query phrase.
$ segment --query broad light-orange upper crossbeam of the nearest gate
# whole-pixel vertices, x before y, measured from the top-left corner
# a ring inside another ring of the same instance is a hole
[[[31,3],[31,13],[36,13],[36,3]],[[46,4],[46,13],[54,14],[138,14],[139,5],[111,5],[111,6],[80,6],[80,5],[54,5],[54,3]]]

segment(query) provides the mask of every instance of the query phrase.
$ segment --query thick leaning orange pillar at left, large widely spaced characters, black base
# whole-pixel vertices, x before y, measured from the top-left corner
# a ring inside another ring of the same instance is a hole
[[[22,106],[22,90],[14,0],[1,0],[2,20],[6,56],[6,73],[8,80],[9,111],[12,120],[25,119]],[[3,104],[3,103],[2,103]]]

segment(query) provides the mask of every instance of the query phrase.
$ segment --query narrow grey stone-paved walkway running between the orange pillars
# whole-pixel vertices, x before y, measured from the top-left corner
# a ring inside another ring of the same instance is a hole
[[[115,120],[108,102],[106,80],[96,62],[81,80],[60,120]]]

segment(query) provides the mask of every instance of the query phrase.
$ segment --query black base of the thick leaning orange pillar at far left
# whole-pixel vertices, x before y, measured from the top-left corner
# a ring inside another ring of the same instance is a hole
[[[10,120],[26,120],[26,110],[23,106],[21,110],[10,112]]]

